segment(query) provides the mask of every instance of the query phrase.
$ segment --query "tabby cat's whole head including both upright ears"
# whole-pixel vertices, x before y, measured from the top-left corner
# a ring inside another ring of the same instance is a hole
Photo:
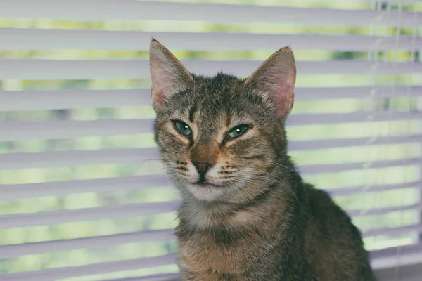
[[[185,200],[245,202],[277,181],[296,68],[281,48],[248,79],[198,77],[151,41],[155,142]]]

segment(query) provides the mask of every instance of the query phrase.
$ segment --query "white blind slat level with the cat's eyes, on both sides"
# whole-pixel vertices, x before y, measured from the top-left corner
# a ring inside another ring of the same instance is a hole
[[[354,122],[410,121],[422,119],[422,112],[351,112],[292,114],[288,126],[324,125]],[[151,133],[153,119],[100,119],[89,121],[1,122],[0,141],[82,138],[119,134]],[[333,141],[337,142],[337,141]],[[1,166],[1,164],[0,164]]]

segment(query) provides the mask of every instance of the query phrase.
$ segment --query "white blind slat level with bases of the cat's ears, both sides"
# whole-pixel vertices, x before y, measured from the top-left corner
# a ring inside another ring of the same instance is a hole
[[[151,89],[0,91],[1,111],[65,110],[150,106]],[[295,101],[321,99],[410,98],[422,96],[422,86],[354,86],[295,88]],[[38,100],[34,103],[33,100]]]

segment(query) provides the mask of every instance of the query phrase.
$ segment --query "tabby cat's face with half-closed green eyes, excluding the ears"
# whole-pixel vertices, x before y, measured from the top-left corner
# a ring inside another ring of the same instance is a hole
[[[155,140],[179,188],[200,200],[222,199],[257,178],[274,162],[278,120],[241,81],[218,75],[195,78],[158,112]]]

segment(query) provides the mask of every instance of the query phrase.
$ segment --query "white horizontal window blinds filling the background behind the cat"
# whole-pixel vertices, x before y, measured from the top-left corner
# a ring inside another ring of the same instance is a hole
[[[422,280],[421,1],[206,2],[0,1],[0,280],[177,280],[151,37],[198,74],[293,48],[290,155],[380,280]]]

